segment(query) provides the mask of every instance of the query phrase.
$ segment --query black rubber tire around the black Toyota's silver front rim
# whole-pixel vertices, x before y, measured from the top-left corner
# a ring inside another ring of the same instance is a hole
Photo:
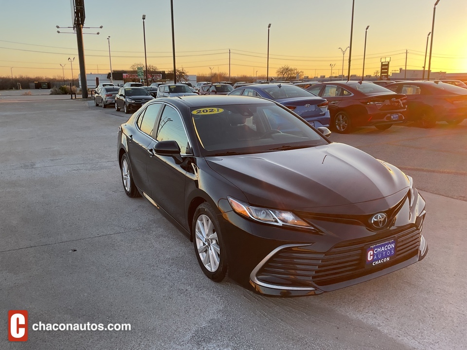
[[[203,265],[201,258],[198,254],[198,247],[196,245],[196,237],[195,237],[196,236],[195,234],[196,222],[198,220],[198,217],[202,214],[209,217],[217,233],[217,241],[219,243],[220,255],[219,255],[219,267],[217,267],[217,270],[214,272],[208,271],[208,269],[206,269],[206,267]],[[192,233],[193,233],[193,246],[195,248],[195,255],[198,260],[199,266],[201,267],[201,270],[210,280],[213,280],[215,282],[221,282],[227,276],[227,266],[228,266],[227,251],[224,245],[222,231],[221,231],[219,222],[217,221],[216,213],[212,209],[211,205],[209,205],[206,202],[200,204],[195,211],[195,215],[193,216],[193,222],[192,222]]]

